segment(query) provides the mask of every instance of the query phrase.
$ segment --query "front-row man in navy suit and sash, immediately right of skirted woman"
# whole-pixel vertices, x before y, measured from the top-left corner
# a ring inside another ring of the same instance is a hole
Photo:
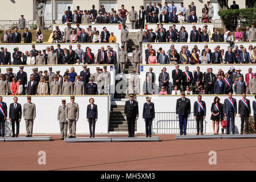
[[[229,92],[229,97],[225,99],[223,105],[223,113],[226,118],[226,134],[229,135],[229,125],[231,122],[232,134],[235,133],[234,117],[237,114],[237,100],[232,98],[232,93]]]

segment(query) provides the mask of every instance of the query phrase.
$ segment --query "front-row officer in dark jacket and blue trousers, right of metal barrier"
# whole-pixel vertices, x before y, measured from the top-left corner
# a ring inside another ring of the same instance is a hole
[[[179,118],[180,135],[187,135],[187,121],[190,117],[190,100],[185,98],[185,92],[181,92],[181,98],[176,102],[176,118]]]

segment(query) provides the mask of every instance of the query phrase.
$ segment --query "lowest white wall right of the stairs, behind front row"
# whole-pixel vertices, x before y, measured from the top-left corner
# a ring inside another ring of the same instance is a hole
[[[180,96],[151,96],[152,100],[151,102],[154,102],[155,105],[155,112],[159,113],[164,113],[164,112],[176,112],[176,101]],[[189,125],[187,126],[187,133],[188,134],[196,134],[196,120],[193,118],[193,106],[194,102],[197,100],[197,96],[186,96],[187,98],[190,99],[191,101],[191,117],[189,118]],[[210,111],[210,106],[212,105],[213,99],[216,96],[203,96],[202,100],[205,101],[206,104],[206,110],[207,110],[207,115],[205,117],[205,122],[204,122],[204,133],[208,134],[213,134],[213,127],[212,127],[212,120],[210,120],[210,116],[212,115]],[[220,98],[220,102],[224,104],[224,100],[228,98],[228,96],[218,96]],[[238,101],[242,99],[242,96],[233,96],[233,98],[236,98],[237,100],[237,109],[238,109]],[[247,96],[247,99],[250,100],[251,104],[251,111],[253,114],[253,107],[252,107],[252,102],[254,101],[254,96]],[[137,121],[137,133],[145,133],[145,123],[142,118],[142,113],[143,113],[143,104],[146,102],[146,96],[137,96],[137,101],[139,105],[139,119]],[[238,112],[238,111],[237,111]],[[164,118],[164,117],[162,117]],[[159,123],[159,125],[155,125],[155,123]],[[171,124],[169,125],[164,125],[164,122],[169,122]],[[159,128],[158,128],[158,127]],[[166,128],[164,128],[164,126]],[[158,134],[179,134],[179,121],[173,117],[166,117],[166,119],[158,119],[158,121],[154,121],[152,123],[153,127],[153,132],[158,133]],[[231,127],[231,126],[230,126]],[[235,131],[236,133],[240,133],[241,129],[241,118],[238,116],[238,113],[235,117]],[[219,133],[221,133],[221,123],[220,123],[220,128],[219,128]],[[230,129],[231,133],[231,129]]]

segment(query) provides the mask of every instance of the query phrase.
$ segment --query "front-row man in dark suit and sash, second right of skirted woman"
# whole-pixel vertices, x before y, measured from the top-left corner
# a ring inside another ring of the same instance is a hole
[[[246,93],[242,93],[242,99],[238,102],[238,115],[241,118],[241,132],[243,134],[243,123],[245,123],[245,134],[249,134],[248,119],[251,117],[250,101],[246,98]]]

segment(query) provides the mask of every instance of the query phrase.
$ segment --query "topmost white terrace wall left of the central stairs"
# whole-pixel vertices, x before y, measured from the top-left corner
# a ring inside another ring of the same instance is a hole
[[[53,31],[55,30],[55,26],[59,26],[60,31],[64,31],[65,27],[67,27],[67,24],[53,24]],[[110,32],[114,33],[114,36],[117,38],[117,43],[121,44],[121,30],[122,25],[121,24],[80,24],[80,28],[84,28],[86,31],[86,27],[92,26],[92,30],[94,27],[96,27],[96,31],[98,30],[101,34],[101,31],[103,31],[103,27],[106,27],[106,29]],[[76,24],[71,24],[72,28],[76,28]]]

